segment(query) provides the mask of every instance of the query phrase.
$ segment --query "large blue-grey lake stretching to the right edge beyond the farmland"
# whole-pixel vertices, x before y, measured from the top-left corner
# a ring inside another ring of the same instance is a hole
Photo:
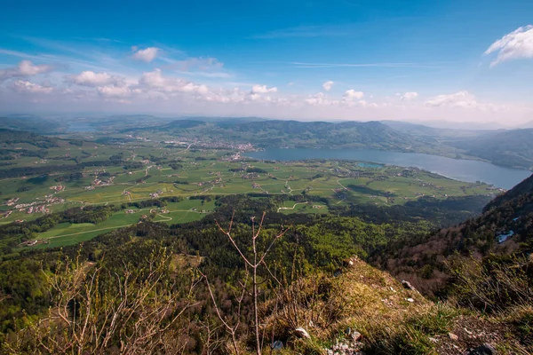
[[[503,168],[489,162],[451,159],[438,155],[387,152],[373,149],[267,149],[260,152],[247,153],[256,159],[275,161],[300,161],[306,159],[341,159],[358,162],[374,162],[401,167],[417,167],[432,171],[445,177],[460,181],[482,181],[505,189],[510,189],[529,177],[528,170]],[[361,166],[361,164],[360,164]],[[362,166],[372,167],[363,163]]]

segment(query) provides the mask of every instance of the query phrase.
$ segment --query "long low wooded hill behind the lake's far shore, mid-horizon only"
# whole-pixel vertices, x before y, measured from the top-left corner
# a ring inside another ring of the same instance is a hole
[[[181,137],[250,142],[254,146],[309,148],[374,148],[406,152],[442,153],[434,138],[415,137],[381,122],[298,122],[225,120],[202,122],[176,120],[162,126],[124,132],[151,130]],[[453,148],[445,153],[451,154]]]

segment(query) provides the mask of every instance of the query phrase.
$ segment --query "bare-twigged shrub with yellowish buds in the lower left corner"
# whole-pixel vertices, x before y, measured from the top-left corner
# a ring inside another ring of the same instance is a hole
[[[170,256],[154,252],[146,270],[124,264],[122,275],[79,259],[60,262],[47,274],[53,307],[29,327],[9,335],[3,351],[9,354],[153,354],[187,353],[195,347],[188,336],[194,285],[183,295],[164,284]],[[144,273],[142,279],[139,273]],[[183,316],[183,317],[182,317]]]

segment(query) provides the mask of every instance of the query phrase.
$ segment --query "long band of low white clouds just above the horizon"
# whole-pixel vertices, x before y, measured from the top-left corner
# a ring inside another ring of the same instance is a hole
[[[522,32],[527,31],[529,29],[523,29]],[[505,45],[502,44],[502,48]],[[138,51],[134,49],[131,55]],[[494,59],[498,51],[492,51]],[[171,50],[166,48],[164,51],[155,51],[154,58],[146,58],[152,63],[161,63],[161,66],[155,66],[161,68],[149,69],[145,73],[139,71],[131,60],[124,62],[120,58],[103,58],[99,55],[96,58],[95,55],[95,59],[76,62],[73,59],[68,62],[65,61],[66,57],[52,54],[30,57],[20,53],[22,55],[20,59],[33,62],[24,60],[11,68],[0,70],[0,77],[8,79],[0,83],[0,90],[4,94],[0,94],[0,106],[7,107],[4,109],[28,103],[44,108],[59,107],[63,111],[91,110],[94,106],[101,106],[110,112],[119,112],[121,103],[129,103],[131,111],[139,109],[154,113],[179,111],[187,114],[261,115],[306,120],[335,118],[365,121],[390,118],[457,122],[525,122],[533,114],[533,106],[528,102],[522,106],[495,104],[476,98],[468,91],[449,92],[430,99],[422,99],[422,94],[414,91],[398,91],[396,96],[395,91],[392,91],[389,97],[373,98],[370,93],[357,89],[335,93],[338,83],[330,80],[322,81],[322,87],[318,87],[322,92],[317,90],[315,94],[305,91],[303,83],[287,83],[289,78],[282,85],[285,88],[294,85],[295,90],[290,93],[259,84],[262,83],[260,81],[254,84],[244,80],[211,80],[211,77],[222,78],[232,73],[227,74],[218,59],[183,59],[187,57],[180,53],[180,57],[176,58],[182,60],[175,60],[171,57]],[[52,70],[52,67],[34,64],[52,60],[58,66],[64,65],[61,72],[65,70],[68,74],[58,72],[45,76],[43,74]],[[32,75],[41,76],[34,79]]]

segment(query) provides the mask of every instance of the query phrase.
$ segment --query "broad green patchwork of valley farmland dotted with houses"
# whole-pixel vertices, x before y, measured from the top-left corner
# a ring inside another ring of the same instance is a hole
[[[90,240],[139,223],[143,216],[169,225],[195,221],[217,209],[216,199],[236,194],[279,196],[272,200],[274,210],[290,215],[497,193],[489,185],[418,169],[334,160],[264,162],[243,158],[239,148],[176,148],[143,139],[114,146],[91,141],[73,146],[59,139],[45,152],[28,143],[12,144],[13,152],[41,156],[15,154],[11,165],[0,166],[0,225],[67,209],[113,208],[98,223],[62,222],[31,237],[38,241],[32,248],[49,248]]]

